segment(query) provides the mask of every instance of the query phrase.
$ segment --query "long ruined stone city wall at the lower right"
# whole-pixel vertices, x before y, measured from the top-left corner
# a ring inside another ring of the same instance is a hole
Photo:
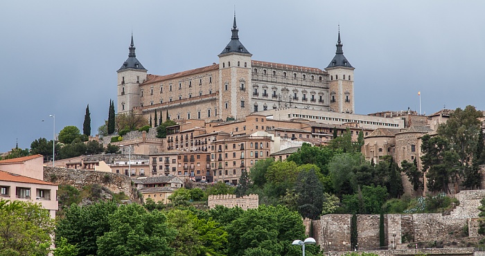
[[[485,190],[466,190],[455,195],[459,205],[450,212],[428,214],[385,214],[385,248],[406,249],[408,244],[443,241],[450,233],[458,233],[468,224],[469,237],[477,237],[480,200]],[[313,221],[313,237],[325,251],[351,248],[351,214],[326,214]],[[380,215],[358,215],[358,249],[377,250]],[[308,225],[306,223],[307,227]],[[310,232],[307,232],[309,234]]]

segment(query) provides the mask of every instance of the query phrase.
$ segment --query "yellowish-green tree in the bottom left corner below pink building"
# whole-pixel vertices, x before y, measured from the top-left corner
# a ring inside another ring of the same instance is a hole
[[[0,199],[0,255],[47,255],[53,228],[41,205]]]

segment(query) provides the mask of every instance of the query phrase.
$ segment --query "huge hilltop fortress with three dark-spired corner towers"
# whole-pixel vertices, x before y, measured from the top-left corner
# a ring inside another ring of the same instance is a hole
[[[354,67],[344,56],[340,30],[335,57],[325,68],[252,60],[240,42],[236,15],[219,63],[167,75],[152,75],[136,59],[133,36],[118,69],[118,113],[149,119],[240,120],[267,109],[307,108],[354,113]],[[330,51],[330,49],[329,49]],[[159,120],[155,120],[159,122]]]

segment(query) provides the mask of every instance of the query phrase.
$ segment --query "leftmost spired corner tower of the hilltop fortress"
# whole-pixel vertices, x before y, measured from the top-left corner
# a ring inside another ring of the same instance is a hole
[[[127,60],[118,71],[118,113],[133,111],[140,107],[140,84],[146,80],[147,70],[136,59],[135,47],[132,42],[128,48]]]

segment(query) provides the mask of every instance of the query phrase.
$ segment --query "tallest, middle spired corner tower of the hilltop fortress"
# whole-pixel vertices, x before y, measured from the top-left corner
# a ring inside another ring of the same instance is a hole
[[[251,112],[251,56],[239,41],[236,13],[231,41],[219,56],[219,119],[240,119]]]

